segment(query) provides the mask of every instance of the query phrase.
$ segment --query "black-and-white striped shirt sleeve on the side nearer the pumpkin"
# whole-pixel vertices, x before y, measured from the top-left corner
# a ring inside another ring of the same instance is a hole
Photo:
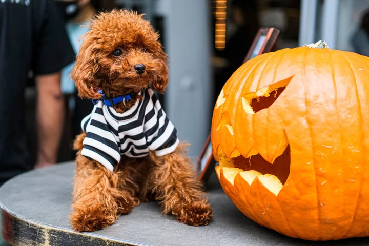
[[[151,100],[146,107],[145,135],[148,147],[157,156],[172,153],[179,144],[177,130],[161,108],[159,100],[150,92]]]

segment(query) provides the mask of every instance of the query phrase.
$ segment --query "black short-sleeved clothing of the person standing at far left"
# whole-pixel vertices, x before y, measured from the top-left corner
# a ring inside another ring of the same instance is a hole
[[[75,58],[53,0],[0,0],[0,184],[30,169],[24,92],[30,70],[51,74]]]

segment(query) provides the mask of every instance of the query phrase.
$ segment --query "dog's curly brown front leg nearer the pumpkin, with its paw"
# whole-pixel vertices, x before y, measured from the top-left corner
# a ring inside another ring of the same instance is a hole
[[[213,213],[183,150],[184,146],[179,145],[166,156],[151,155],[154,167],[149,176],[150,189],[165,214],[171,213],[179,222],[192,226],[206,226]]]

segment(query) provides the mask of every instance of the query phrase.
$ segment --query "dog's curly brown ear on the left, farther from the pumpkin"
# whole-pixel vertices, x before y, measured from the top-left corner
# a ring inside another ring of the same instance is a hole
[[[79,48],[79,54],[73,67],[71,78],[74,80],[78,95],[81,98],[99,99],[101,95],[96,74],[100,69],[98,64],[98,49],[94,47],[94,36],[91,31],[84,36],[83,43]]]

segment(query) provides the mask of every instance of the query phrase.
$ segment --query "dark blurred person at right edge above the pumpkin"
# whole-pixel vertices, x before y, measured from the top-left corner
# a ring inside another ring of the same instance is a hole
[[[366,11],[361,19],[359,28],[351,38],[354,52],[369,56],[369,11]]]

